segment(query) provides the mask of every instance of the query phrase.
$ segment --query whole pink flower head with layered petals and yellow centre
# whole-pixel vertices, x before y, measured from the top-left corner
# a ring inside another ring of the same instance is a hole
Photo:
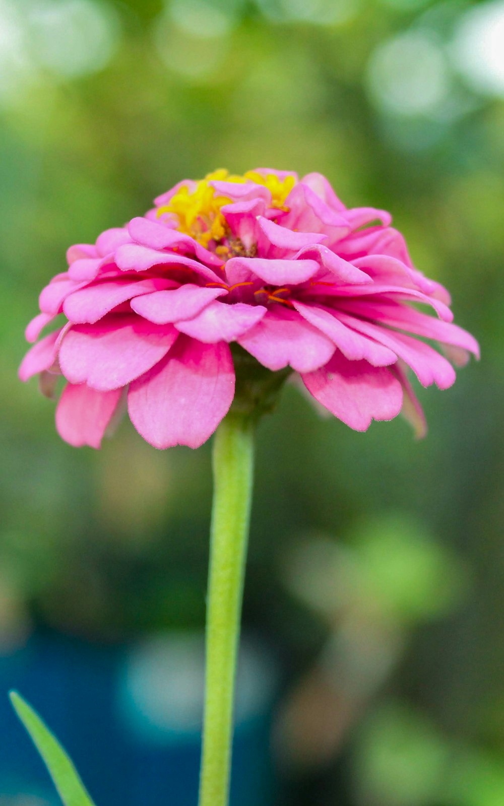
[[[409,370],[447,388],[448,359],[478,355],[452,324],[448,291],[414,268],[389,214],[348,210],[318,173],[183,181],[144,217],[67,257],[68,271],[40,294],[28,341],[65,321],[31,347],[19,376],[40,374],[47,393],[65,377],[56,427],[75,446],[99,447],[125,397],[155,447],[200,446],[233,401],[234,342],[273,372],[292,368],[355,430],[403,408],[419,434]]]

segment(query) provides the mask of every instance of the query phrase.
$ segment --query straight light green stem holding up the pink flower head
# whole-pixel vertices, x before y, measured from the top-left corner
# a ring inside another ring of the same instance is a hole
[[[236,655],[252,500],[253,425],[229,413],[214,438],[199,806],[227,806]]]

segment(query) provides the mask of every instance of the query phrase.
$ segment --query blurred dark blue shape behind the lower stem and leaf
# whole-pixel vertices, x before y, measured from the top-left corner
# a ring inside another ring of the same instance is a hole
[[[269,723],[276,680],[264,650],[244,642],[232,806],[267,806],[275,798]],[[0,806],[58,803],[10,708],[10,688],[56,733],[98,806],[195,806],[202,684],[202,635],[156,635],[130,646],[35,635],[0,659]]]

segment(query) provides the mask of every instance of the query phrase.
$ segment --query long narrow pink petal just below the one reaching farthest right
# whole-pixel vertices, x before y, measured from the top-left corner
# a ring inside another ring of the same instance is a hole
[[[352,327],[394,350],[398,357],[402,358],[413,370],[423,386],[435,383],[440,389],[447,389],[455,381],[455,370],[452,364],[425,342],[394,330],[388,330],[386,327],[373,325],[372,322],[364,322],[362,319],[339,311],[336,316],[348,327]]]

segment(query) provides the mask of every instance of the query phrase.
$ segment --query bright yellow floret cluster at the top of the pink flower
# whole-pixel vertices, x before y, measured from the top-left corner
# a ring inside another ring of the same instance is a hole
[[[286,177],[281,180],[273,173],[263,176],[256,171],[248,171],[244,173],[243,177],[240,177],[228,173],[225,168],[219,168],[218,171],[209,173],[204,179],[198,181],[194,190],[182,185],[167,205],[158,207],[157,214],[176,215],[178,218],[177,230],[191,235],[204,247],[207,247],[210,241],[219,243],[226,237],[227,224],[221,213],[221,207],[232,202],[231,198],[219,196],[215,188],[210,185],[211,181],[238,183],[252,181],[256,185],[263,185],[271,193],[271,206],[278,207],[280,210],[286,209],[285,199],[295,184],[294,177]]]

